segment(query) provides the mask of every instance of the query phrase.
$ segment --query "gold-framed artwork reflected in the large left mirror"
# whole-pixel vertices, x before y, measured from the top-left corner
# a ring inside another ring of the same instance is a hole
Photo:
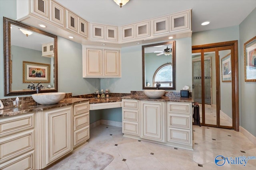
[[[23,83],[50,83],[50,64],[23,61]]]

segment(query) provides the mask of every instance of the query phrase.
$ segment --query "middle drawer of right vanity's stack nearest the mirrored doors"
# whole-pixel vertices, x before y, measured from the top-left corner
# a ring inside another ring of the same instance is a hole
[[[168,127],[190,129],[190,116],[188,115],[168,115]]]

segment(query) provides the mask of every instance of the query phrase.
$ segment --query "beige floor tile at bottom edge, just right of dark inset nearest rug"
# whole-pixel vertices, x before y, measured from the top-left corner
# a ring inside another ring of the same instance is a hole
[[[154,155],[140,156],[126,160],[130,170],[167,170]]]

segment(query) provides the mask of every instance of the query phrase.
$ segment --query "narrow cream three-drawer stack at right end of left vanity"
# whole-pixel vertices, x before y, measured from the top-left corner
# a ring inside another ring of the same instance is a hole
[[[89,102],[74,105],[74,147],[90,138]]]

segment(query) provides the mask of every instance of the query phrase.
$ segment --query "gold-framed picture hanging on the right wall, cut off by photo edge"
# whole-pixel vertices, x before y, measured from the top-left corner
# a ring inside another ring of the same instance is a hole
[[[244,43],[244,80],[256,82],[256,36]]]

